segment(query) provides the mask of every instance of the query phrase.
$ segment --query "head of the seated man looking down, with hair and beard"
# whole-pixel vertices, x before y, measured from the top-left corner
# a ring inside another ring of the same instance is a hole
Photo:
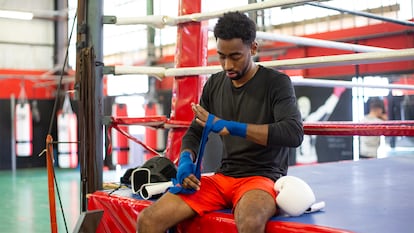
[[[250,78],[246,74],[252,70],[252,56],[257,52],[256,24],[243,13],[225,13],[214,28],[214,36],[226,75],[234,81]]]

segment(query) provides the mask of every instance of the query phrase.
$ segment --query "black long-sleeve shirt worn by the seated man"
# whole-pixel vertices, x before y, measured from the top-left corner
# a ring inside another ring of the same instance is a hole
[[[222,136],[223,158],[218,173],[272,180],[287,174],[289,147],[299,146],[303,139],[302,120],[287,75],[259,66],[252,79],[236,88],[225,72],[213,74],[203,88],[200,105],[224,120],[269,124],[267,146],[237,136]],[[202,130],[193,121],[181,148],[197,152]]]

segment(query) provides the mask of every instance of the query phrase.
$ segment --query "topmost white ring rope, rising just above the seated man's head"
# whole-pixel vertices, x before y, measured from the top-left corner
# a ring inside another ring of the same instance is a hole
[[[164,26],[176,26],[180,23],[200,22],[204,20],[214,19],[222,16],[229,11],[257,11],[272,7],[284,6],[289,4],[301,4],[312,2],[310,0],[269,0],[264,2],[252,3],[245,6],[228,8],[220,11],[212,11],[206,13],[194,13],[188,15],[181,15],[177,17],[172,16],[148,16],[148,17],[116,17],[116,25],[131,25],[131,24],[146,24],[148,26],[163,28]]]

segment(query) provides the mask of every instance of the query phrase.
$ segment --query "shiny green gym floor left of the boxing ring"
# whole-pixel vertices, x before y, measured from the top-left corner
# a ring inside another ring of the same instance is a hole
[[[59,201],[56,192],[58,232],[72,232],[81,212],[80,173],[56,169],[55,174],[60,194]],[[119,173],[104,172],[104,182],[119,181],[117,177]],[[51,232],[46,168],[0,171],[0,186],[0,233]]]

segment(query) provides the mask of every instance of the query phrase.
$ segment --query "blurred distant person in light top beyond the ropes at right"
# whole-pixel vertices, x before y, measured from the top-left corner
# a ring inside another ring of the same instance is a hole
[[[385,113],[384,102],[378,98],[373,97],[368,100],[368,114],[364,116],[364,122],[381,122],[388,120],[387,114]],[[360,155],[361,159],[377,158],[378,148],[381,144],[380,136],[361,136],[360,137]]]

